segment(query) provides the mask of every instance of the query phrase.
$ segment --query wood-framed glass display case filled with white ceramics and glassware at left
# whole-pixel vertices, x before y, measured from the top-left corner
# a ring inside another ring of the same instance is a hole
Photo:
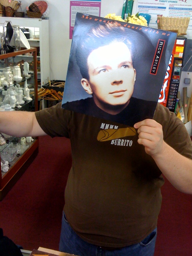
[[[36,52],[36,48],[31,48],[0,55],[0,115],[1,111],[38,110]],[[25,59],[28,55],[32,56],[30,62]],[[16,138],[0,131],[0,200],[37,153],[37,137]]]

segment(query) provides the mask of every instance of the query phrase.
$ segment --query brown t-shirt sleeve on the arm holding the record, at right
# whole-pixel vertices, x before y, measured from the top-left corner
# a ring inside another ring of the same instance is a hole
[[[183,122],[161,104],[157,104],[154,119],[162,124],[164,141],[181,155],[192,159],[192,141]]]

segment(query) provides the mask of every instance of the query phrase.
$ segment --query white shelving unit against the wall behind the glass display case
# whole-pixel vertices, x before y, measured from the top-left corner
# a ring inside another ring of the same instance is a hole
[[[41,85],[44,85],[50,79],[50,60],[49,60],[49,20],[36,18],[15,18],[15,17],[0,17],[0,23],[11,21],[12,25],[18,25],[21,28],[29,28],[30,39],[28,42],[30,47],[40,47],[40,55],[37,60],[40,60],[40,72],[38,72],[38,79]],[[33,36],[38,36],[39,39],[34,39]],[[21,45],[22,46],[22,45]],[[30,56],[25,56],[24,61],[30,62],[33,59]],[[29,60],[27,60],[29,58]]]

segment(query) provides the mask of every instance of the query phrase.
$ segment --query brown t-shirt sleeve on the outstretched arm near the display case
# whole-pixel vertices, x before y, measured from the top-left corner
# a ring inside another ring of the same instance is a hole
[[[61,108],[61,102],[51,108],[35,112],[38,124],[51,137],[66,137],[71,111]]]

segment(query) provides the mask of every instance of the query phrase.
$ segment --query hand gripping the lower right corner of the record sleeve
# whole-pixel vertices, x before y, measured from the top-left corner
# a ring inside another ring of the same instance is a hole
[[[161,154],[163,150],[163,129],[162,125],[153,119],[145,119],[134,124],[134,128],[138,129],[138,143],[145,147],[145,152],[150,156]]]

